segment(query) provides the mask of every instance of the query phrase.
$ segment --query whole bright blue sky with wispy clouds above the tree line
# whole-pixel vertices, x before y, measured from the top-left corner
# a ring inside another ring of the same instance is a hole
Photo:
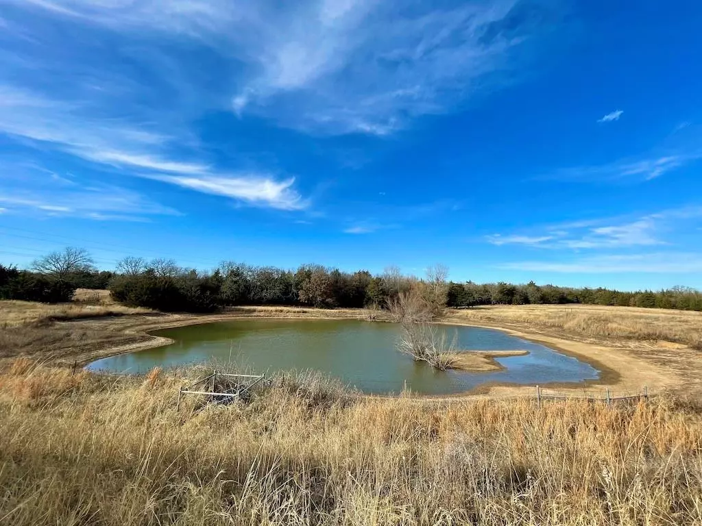
[[[702,288],[702,4],[0,0],[0,262]]]

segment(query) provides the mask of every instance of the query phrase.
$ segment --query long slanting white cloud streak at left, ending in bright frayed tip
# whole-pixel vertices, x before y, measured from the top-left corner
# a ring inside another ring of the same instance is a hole
[[[0,132],[50,144],[87,161],[128,170],[128,175],[143,175],[257,206],[299,210],[308,204],[292,188],[294,178],[278,180],[267,173],[230,175],[197,160],[173,159],[166,152],[176,141],[175,137],[121,121],[101,123],[81,118],[76,115],[80,113],[76,105],[0,86],[0,107],[8,109],[0,114]],[[149,171],[144,173],[143,170]]]

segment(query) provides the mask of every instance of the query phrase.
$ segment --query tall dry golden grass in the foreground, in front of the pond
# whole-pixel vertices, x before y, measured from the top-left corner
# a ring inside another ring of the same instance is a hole
[[[700,525],[702,420],[670,400],[418,403],[16,360],[0,374],[8,525]]]

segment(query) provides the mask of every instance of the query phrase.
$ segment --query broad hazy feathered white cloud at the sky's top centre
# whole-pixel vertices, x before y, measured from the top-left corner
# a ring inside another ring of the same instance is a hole
[[[504,83],[533,14],[515,0],[307,3],[248,35],[250,73],[232,107],[315,132],[389,135]]]

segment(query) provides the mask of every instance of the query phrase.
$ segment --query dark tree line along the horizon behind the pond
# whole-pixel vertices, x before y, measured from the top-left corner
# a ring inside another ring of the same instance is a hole
[[[0,299],[67,302],[76,288],[110,290],[131,306],[161,311],[209,312],[234,305],[300,305],[324,308],[388,308],[414,291],[431,309],[495,304],[597,304],[702,311],[702,294],[691,288],[622,292],[510,283],[447,281],[441,265],[427,276],[404,276],[397,267],[382,274],[345,272],[317,264],[298,269],[225,262],[210,272],[180,267],[173,259],[125,257],[114,271],[99,271],[84,249],[66,248],[32,263],[31,269],[0,265]]]

